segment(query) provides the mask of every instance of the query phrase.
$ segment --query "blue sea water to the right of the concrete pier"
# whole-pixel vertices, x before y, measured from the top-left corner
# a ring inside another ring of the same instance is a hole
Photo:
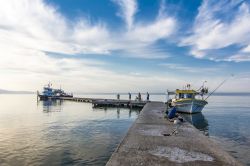
[[[250,95],[216,95],[202,113],[181,114],[244,165],[250,165]]]

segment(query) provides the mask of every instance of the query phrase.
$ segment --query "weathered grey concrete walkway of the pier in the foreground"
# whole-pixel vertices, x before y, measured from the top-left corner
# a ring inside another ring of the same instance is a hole
[[[147,103],[107,166],[241,165],[188,122],[165,119],[165,110]]]

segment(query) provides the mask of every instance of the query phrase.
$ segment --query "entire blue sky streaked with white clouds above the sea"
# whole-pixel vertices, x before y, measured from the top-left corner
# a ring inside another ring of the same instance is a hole
[[[0,20],[0,89],[250,92],[247,0],[0,0]]]

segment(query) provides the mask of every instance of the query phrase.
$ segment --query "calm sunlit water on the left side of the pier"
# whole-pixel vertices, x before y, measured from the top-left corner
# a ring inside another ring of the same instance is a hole
[[[105,165],[139,110],[0,95],[0,165]]]

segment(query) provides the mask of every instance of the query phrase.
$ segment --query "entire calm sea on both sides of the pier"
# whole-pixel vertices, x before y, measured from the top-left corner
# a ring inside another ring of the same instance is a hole
[[[151,99],[165,101],[166,96]],[[212,96],[208,102],[202,114],[185,119],[250,165],[250,96]],[[37,102],[36,95],[0,94],[0,165],[105,165],[138,114],[122,108],[94,109],[88,103]]]

